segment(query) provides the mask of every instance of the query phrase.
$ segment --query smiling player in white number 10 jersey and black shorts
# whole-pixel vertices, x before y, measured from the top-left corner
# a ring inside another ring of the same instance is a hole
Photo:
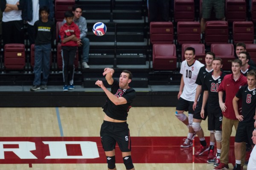
[[[180,91],[178,94],[178,104],[175,116],[189,128],[188,136],[180,147],[190,147],[193,144],[192,139],[196,134],[192,128],[194,113],[193,104],[197,88],[195,81],[200,68],[204,65],[198,60],[195,60],[195,48],[186,48],[184,56],[186,60],[181,63],[180,67],[180,74],[182,74],[182,77],[180,80]],[[188,117],[183,113],[184,111],[189,112]]]

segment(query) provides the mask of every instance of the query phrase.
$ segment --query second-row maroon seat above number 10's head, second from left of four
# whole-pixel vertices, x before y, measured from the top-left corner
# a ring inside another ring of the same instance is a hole
[[[177,23],[177,42],[179,45],[201,43],[200,23],[196,21],[179,21]]]

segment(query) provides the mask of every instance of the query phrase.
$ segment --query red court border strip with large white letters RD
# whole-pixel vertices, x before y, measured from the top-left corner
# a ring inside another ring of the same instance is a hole
[[[180,148],[183,139],[184,137],[131,137],[133,162],[192,163],[193,148]],[[209,143],[209,137],[206,137],[206,140]],[[54,142],[58,145],[64,143],[64,147],[56,149],[56,145],[52,145]],[[81,143],[86,142],[92,145],[83,148]],[[234,163],[234,137],[230,138],[230,144],[230,163]],[[200,142],[196,137],[195,151],[199,147]],[[90,153],[88,156],[92,156],[92,158],[83,158],[87,153]],[[24,157],[21,158],[23,155]],[[31,157],[26,157],[27,155]],[[122,162],[121,152],[116,146],[116,163]],[[206,162],[207,153],[195,157],[195,163]],[[46,163],[106,163],[106,157],[100,137],[0,137],[0,164],[29,164],[32,166],[32,164]]]

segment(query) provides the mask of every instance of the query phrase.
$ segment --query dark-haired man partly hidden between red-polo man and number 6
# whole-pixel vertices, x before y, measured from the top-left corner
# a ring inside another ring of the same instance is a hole
[[[250,70],[256,70],[256,67],[250,66],[250,54],[247,51],[241,51],[238,58],[242,61],[241,73],[246,77]]]

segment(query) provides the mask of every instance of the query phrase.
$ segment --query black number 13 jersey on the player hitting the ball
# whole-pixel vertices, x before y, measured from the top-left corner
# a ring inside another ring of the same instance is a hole
[[[114,94],[117,98],[124,97],[127,103],[123,105],[115,105],[107,97],[107,102],[102,107],[103,111],[112,119],[126,120],[128,116],[128,111],[131,108],[131,103],[136,96],[135,90],[133,88],[120,88],[119,81],[114,79],[113,84],[111,85],[111,93]]]

